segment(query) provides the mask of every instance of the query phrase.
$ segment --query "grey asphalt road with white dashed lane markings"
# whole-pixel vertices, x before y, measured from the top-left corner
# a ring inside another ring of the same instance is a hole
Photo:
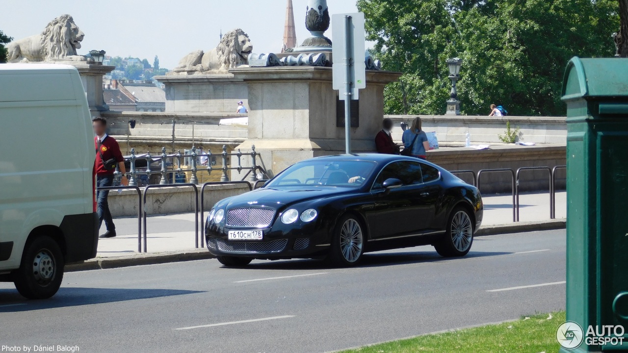
[[[67,273],[45,301],[0,283],[0,348],[327,352],[563,309],[563,281],[564,230],[480,237],[458,259],[432,247],[372,253],[350,269],[212,259]]]

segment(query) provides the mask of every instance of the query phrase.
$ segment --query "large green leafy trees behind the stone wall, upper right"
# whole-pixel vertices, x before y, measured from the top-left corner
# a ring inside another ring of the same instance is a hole
[[[463,114],[565,114],[560,87],[573,56],[614,55],[617,0],[358,0],[383,68],[404,72],[384,92],[388,114],[443,114],[445,60],[463,59]]]

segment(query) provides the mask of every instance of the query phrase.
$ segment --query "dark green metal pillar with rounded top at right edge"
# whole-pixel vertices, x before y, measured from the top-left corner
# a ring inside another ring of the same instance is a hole
[[[567,104],[567,320],[628,331],[628,59],[572,58]],[[607,330],[608,331],[608,330]],[[605,335],[609,335],[606,332]],[[582,344],[560,352],[628,352]]]

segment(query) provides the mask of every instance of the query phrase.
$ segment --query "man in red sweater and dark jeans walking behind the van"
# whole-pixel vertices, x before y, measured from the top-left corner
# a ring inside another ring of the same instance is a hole
[[[116,139],[107,136],[107,120],[104,117],[95,117],[92,119],[92,128],[94,129],[94,146],[96,148],[96,160],[94,161],[94,173],[96,175],[97,187],[111,187],[114,182],[114,172],[116,165],[120,173],[122,173],[122,185],[129,185],[126,180],[126,168],[124,168],[124,157],[120,152],[120,146]],[[111,238],[116,236],[116,225],[109,212],[109,204],[107,203],[107,195],[109,191],[97,192],[97,213],[100,219],[98,227],[105,221],[107,232],[102,234],[101,238]]]

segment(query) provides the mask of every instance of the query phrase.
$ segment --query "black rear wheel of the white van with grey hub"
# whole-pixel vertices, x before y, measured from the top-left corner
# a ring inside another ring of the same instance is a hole
[[[13,272],[15,288],[28,299],[46,299],[55,295],[63,281],[63,254],[56,241],[36,237],[26,244],[22,263]]]

